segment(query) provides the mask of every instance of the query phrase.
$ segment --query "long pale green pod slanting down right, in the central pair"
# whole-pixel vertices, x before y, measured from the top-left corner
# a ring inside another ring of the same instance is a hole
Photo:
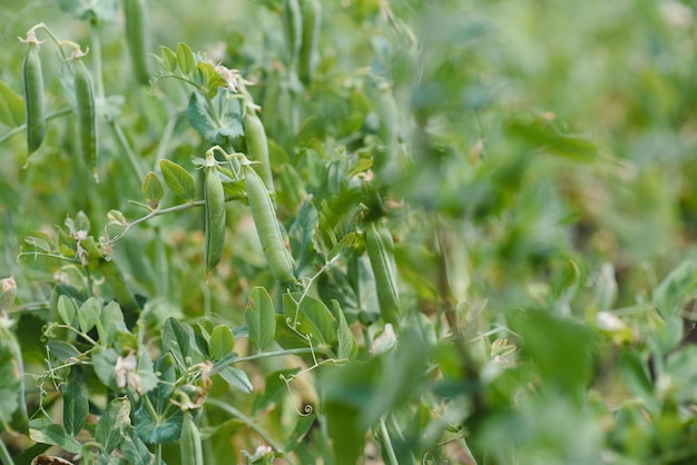
[[[268,190],[259,175],[249,165],[244,167],[244,172],[252,218],[271,271],[283,284],[295,283],[293,258],[285,248]]]

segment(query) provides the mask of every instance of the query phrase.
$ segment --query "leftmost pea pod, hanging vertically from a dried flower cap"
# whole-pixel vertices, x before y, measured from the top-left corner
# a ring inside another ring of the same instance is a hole
[[[43,73],[39,57],[39,41],[30,33],[27,38],[29,48],[22,63],[24,75],[24,109],[27,121],[27,149],[29,155],[39,149],[46,133],[46,96],[43,93]]]

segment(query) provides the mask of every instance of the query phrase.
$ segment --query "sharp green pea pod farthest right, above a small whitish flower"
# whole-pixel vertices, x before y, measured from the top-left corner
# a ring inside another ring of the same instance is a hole
[[[375,276],[380,315],[385,323],[392,323],[396,326],[400,321],[401,310],[392,235],[384,226],[379,229],[373,222],[365,230],[365,246]]]

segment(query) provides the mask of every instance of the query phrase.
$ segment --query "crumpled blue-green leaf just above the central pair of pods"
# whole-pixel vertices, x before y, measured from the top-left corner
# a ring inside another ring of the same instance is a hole
[[[228,92],[219,89],[210,101],[198,92],[193,92],[189,99],[186,118],[210,144],[225,145],[244,133],[239,99],[227,97]]]

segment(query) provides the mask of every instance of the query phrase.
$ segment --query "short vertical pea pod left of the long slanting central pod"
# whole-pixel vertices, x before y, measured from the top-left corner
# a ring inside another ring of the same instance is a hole
[[[205,251],[206,273],[210,273],[223,258],[225,246],[225,191],[213,154],[207,155],[205,168]]]

